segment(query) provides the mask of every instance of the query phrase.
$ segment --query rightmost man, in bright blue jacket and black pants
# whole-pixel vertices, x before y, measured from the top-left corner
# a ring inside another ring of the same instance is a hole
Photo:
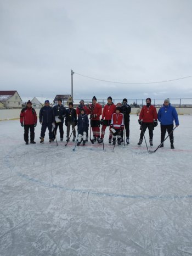
[[[171,149],[174,149],[173,145],[173,121],[176,123],[176,126],[179,126],[178,114],[174,107],[172,107],[170,103],[170,99],[167,98],[164,101],[163,106],[159,109],[158,112],[158,120],[161,123],[161,142],[165,140],[166,131],[170,134],[170,142],[171,142]],[[163,147],[163,144],[161,144]]]

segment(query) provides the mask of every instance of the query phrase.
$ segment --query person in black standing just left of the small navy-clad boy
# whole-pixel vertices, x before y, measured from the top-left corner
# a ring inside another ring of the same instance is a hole
[[[73,135],[72,141],[75,141],[76,138],[76,131],[75,126],[77,125],[77,114],[74,107],[74,104],[72,102],[69,103],[69,108],[66,110],[66,116],[65,116],[65,125],[67,126],[67,136],[66,141],[69,141],[69,132],[70,132],[70,126],[72,126]]]

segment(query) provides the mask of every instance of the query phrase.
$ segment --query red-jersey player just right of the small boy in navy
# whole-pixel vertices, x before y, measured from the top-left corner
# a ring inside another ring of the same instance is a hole
[[[91,119],[91,127],[93,131],[93,141],[100,141],[100,115],[102,114],[102,107],[97,103],[97,98],[94,96],[92,99],[92,104],[89,105],[89,114]]]

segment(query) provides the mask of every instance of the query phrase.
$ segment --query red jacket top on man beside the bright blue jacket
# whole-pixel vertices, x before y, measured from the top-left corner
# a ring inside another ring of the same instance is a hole
[[[153,123],[154,119],[157,119],[157,110],[153,105],[147,107],[146,105],[143,106],[139,119],[143,120],[143,123]]]

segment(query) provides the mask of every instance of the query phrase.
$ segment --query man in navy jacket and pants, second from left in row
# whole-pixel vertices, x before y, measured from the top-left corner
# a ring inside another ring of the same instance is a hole
[[[49,130],[49,142],[52,142],[53,139],[53,123],[54,123],[54,116],[53,116],[53,108],[49,106],[49,101],[46,100],[44,102],[44,107],[40,109],[39,112],[39,122],[42,125],[41,126],[41,141],[40,143],[43,143],[44,141],[44,135],[46,132],[46,129],[48,127]]]

